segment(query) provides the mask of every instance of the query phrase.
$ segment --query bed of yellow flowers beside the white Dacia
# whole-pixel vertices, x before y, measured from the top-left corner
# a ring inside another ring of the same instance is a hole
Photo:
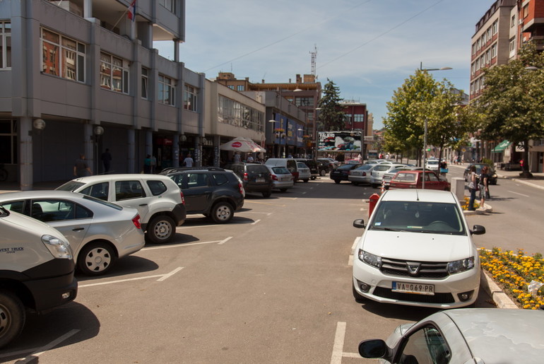
[[[527,287],[531,281],[544,282],[544,260],[542,254],[525,255],[522,249],[517,254],[512,250],[494,247],[480,248],[482,269],[489,271],[493,279],[517,301],[519,307],[528,310],[544,308],[544,286],[537,295],[531,295]]]

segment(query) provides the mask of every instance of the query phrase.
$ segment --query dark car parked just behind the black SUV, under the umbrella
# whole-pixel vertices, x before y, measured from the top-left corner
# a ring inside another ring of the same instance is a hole
[[[245,192],[260,192],[263,197],[272,194],[272,177],[266,165],[259,163],[232,163],[225,165],[242,180]]]

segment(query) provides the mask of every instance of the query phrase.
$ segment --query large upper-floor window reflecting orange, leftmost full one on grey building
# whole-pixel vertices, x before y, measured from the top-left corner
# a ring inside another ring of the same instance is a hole
[[[85,45],[42,28],[42,72],[85,82]]]

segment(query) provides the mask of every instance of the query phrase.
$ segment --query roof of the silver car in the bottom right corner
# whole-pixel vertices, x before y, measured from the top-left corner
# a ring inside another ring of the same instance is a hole
[[[439,313],[456,324],[473,356],[485,363],[542,362],[542,311],[470,308]]]

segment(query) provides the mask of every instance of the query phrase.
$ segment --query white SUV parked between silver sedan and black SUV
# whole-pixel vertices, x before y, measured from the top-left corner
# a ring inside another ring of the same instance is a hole
[[[170,177],[126,174],[80,177],[57,187],[79,192],[120,206],[134,207],[150,242],[170,242],[187,212],[183,193]]]

